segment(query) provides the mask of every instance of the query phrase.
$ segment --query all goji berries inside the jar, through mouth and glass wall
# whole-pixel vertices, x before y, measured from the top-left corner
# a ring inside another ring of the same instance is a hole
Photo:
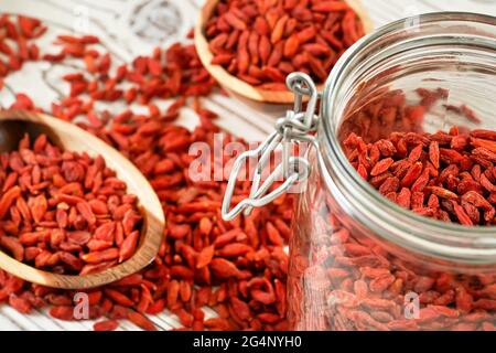
[[[444,89],[413,94],[418,105],[397,89],[353,110],[338,135],[346,158],[384,197],[412,213],[471,227],[496,225],[496,131],[454,126],[425,132],[424,118],[434,105],[459,121],[481,120],[467,106],[443,105]],[[357,225],[313,178],[315,191],[300,202],[290,244],[291,327],[496,330],[494,268],[455,267],[391,245]]]

